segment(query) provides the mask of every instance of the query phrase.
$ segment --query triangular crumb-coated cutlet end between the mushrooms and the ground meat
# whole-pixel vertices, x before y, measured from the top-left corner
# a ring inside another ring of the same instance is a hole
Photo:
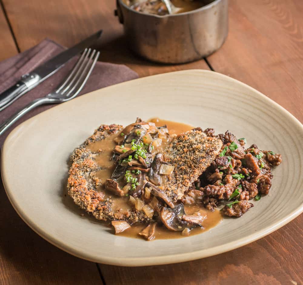
[[[165,161],[175,166],[164,177],[165,192],[175,201],[181,199],[198,177],[210,166],[222,147],[222,141],[199,130],[175,136],[164,152]]]

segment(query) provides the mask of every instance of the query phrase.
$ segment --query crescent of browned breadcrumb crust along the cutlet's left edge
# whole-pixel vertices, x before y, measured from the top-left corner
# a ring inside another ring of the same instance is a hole
[[[73,198],[75,204],[92,214],[96,219],[126,220],[129,224],[133,224],[149,219],[143,212],[132,211],[126,216],[112,211],[112,199],[104,200],[103,194],[96,191],[100,181],[94,173],[102,167],[95,163],[96,154],[86,148],[88,144],[101,141],[122,129],[121,125],[116,124],[101,125],[91,137],[73,151],[71,155],[73,164],[69,170],[67,187],[68,194]]]

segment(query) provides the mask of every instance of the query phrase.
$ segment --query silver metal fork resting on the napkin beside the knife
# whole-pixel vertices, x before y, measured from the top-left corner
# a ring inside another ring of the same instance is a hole
[[[35,99],[23,109],[13,114],[5,123],[0,126],[0,136],[17,120],[19,120],[24,114],[43,104],[59,104],[75,98],[85,85],[88,77],[91,75],[92,70],[98,60],[100,52],[96,54],[96,50],[93,51],[89,48],[85,48],[81,57],[78,59],[72,71],[64,79],[64,81],[58,85],[58,87],[47,94],[45,97]]]

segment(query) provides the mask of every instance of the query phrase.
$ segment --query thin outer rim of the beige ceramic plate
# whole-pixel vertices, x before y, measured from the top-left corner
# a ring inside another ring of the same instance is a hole
[[[257,93],[259,96],[261,96],[263,99],[267,100],[268,103],[270,104],[274,104],[275,107],[279,108],[285,115],[287,115],[288,117],[290,117],[293,120],[294,124],[297,124],[297,126],[299,128],[301,128],[302,132],[303,132],[303,125],[301,124],[301,122],[293,115],[291,114],[289,111],[287,111],[285,108],[283,108],[281,105],[279,105],[278,103],[276,103],[275,101],[273,101],[271,98],[268,98],[266,95],[264,95],[263,93],[261,93],[260,91],[256,90],[255,88],[241,82],[238,81],[237,79],[231,78],[227,75],[215,72],[215,71],[209,71],[209,70],[201,70],[201,69],[189,69],[189,70],[181,70],[181,71],[173,71],[173,72],[168,72],[168,73],[162,73],[162,74],[157,74],[157,75],[151,75],[148,77],[143,77],[143,78],[137,78],[137,79],[133,79],[132,81],[144,81],[146,78],[150,78],[150,77],[161,77],[161,76],[165,76],[165,75],[169,75],[169,74],[175,74],[175,73],[190,73],[190,72],[198,72],[201,74],[201,76],[204,73],[211,73],[211,74],[215,74],[216,76],[218,76],[219,78],[225,78],[227,80],[233,81],[236,84],[240,84],[245,88],[250,89],[251,91]],[[123,85],[123,84],[127,84],[130,81],[126,81],[126,82],[122,82],[116,85]],[[113,86],[116,85],[111,85],[105,88],[112,88]],[[104,88],[101,88],[104,89]],[[99,89],[100,90],[100,89]],[[96,92],[98,90],[92,91],[92,92]],[[90,93],[89,92],[87,94],[84,94],[82,96],[89,96]],[[81,96],[81,97],[82,97]],[[78,98],[81,98],[78,97]],[[74,100],[77,100],[78,98],[75,98]],[[68,103],[68,102],[66,102]],[[53,108],[58,107],[58,105],[54,106]],[[102,257],[102,256],[98,256],[98,257],[93,257],[91,254],[86,254],[83,252],[80,252],[78,249],[75,248],[71,248],[69,247],[67,244],[63,244],[62,241],[58,240],[57,238],[54,237],[50,237],[49,234],[47,232],[45,232],[42,228],[38,227],[34,221],[32,221],[30,219],[30,217],[28,217],[28,215],[26,213],[24,213],[22,211],[22,208],[20,207],[20,205],[18,205],[17,201],[14,200],[11,196],[10,196],[10,189],[9,189],[9,182],[7,181],[6,177],[5,177],[5,169],[3,169],[3,165],[4,165],[4,152],[5,152],[5,148],[6,145],[8,144],[8,140],[9,138],[11,138],[16,131],[18,131],[19,128],[22,128],[22,125],[25,123],[28,123],[28,121],[31,121],[33,118],[35,118],[36,116],[39,116],[42,113],[48,112],[50,110],[52,110],[53,108],[50,108],[46,111],[43,111],[31,118],[29,118],[28,120],[22,122],[21,124],[19,124],[18,126],[16,126],[16,128],[14,128],[7,136],[7,138],[5,139],[2,149],[1,149],[1,176],[2,176],[2,181],[3,181],[3,186],[5,189],[5,193],[10,201],[10,203],[12,204],[14,210],[17,212],[17,214],[19,215],[19,217],[21,217],[21,219],[32,229],[35,231],[35,233],[37,233],[39,236],[41,236],[42,238],[44,238],[45,240],[47,240],[50,244],[60,248],[61,250],[64,250],[65,252],[72,254],[76,257],[85,259],[85,260],[89,260],[92,262],[98,262],[98,263],[104,263],[104,264],[110,264],[110,265],[117,265],[117,266],[128,266],[128,267],[134,267],[134,266],[151,266],[151,265],[161,265],[161,264],[171,264],[171,263],[179,263],[179,262],[185,262],[185,261],[191,261],[191,260],[196,260],[196,259],[200,259],[200,258],[205,258],[205,257],[210,257],[213,255],[217,255],[217,254],[221,254],[221,253],[225,253],[228,252],[230,250],[234,250],[237,249],[239,247],[243,247],[251,242],[254,242],[255,240],[261,239],[262,237],[267,236],[268,234],[271,234],[272,232],[274,232],[275,230],[278,230],[279,228],[283,227],[285,224],[289,223],[291,220],[295,219],[296,217],[298,217],[298,215],[300,215],[303,212],[303,203],[301,203],[301,205],[299,207],[297,207],[295,210],[291,211],[288,215],[286,215],[285,217],[283,217],[282,219],[278,220],[275,224],[270,225],[268,227],[265,227],[262,230],[258,230],[256,232],[254,232],[253,234],[250,234],[249,236],[243,237],[239,240],[237,240],[237,244],[235,244],[235,242],[230,242],[228,244],[224,244],[224,245],[219,245],[217,247],[211,247],[210,249],[202,249],[202,250],[195,250],[190,252],[190,254],[188,252],[186,253],[177,253],[177,254],[169,254],[169,255],[165,255],[165,256],[154,256],[152,258],[150,257],[125,257],[125,258],[112,258],[112,257]],[[172,262],[173,260],[173,262]]]

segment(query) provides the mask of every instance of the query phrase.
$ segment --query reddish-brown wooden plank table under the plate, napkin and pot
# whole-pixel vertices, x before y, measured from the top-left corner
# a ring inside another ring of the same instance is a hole
[[[212,69],[258,89],[303,122],[302,0],[230,0],[223,47],[205,60],[183,65],[158,65],[132,55],[113,16],[114,0],[0,3],[0,60],[45,37],[69,47],[103,28],[102,61],[128,65],[141,77]],[[303,215],[225,254],[131,268],[96,264],[59,250],[18,217],[3,191],[0,200],[0,284],[303,284]]]

